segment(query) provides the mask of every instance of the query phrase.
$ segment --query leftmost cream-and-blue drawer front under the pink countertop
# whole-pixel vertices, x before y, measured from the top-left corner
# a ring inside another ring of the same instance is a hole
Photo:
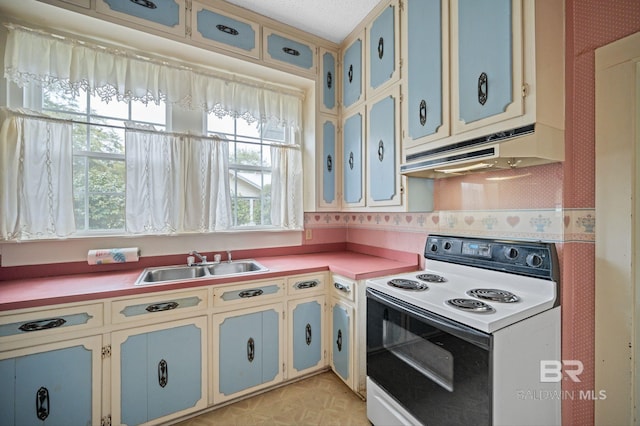
[[[102,303],[3,315],[0,342],[91,329],[102,324]]]

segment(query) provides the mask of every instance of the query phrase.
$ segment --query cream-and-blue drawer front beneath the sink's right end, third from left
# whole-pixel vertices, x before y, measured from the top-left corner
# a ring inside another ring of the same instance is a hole
[[[253,281],[231,287],[213,289],[213,306],[225,307],[239,304],[262,304],[284,295],[284,280]]]

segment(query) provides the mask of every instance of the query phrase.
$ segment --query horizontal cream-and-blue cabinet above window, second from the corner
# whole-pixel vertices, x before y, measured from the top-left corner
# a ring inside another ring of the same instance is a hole
[[[191,40],[260,58],[260,25],[204,3],[193,1]]]

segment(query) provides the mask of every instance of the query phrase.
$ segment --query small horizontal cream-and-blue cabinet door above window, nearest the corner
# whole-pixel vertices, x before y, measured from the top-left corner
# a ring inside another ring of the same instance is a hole
[[[289,36],[266,28],[264,29],[263,37],[265,62],[291,66],[292,69],[315,74],[315,46],[303,41],[293,40]]]

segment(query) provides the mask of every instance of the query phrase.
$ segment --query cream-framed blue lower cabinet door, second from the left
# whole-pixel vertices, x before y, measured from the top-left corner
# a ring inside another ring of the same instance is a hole
[[[113,424],[168,420],[207,406],[207,317],[112,333]]]

